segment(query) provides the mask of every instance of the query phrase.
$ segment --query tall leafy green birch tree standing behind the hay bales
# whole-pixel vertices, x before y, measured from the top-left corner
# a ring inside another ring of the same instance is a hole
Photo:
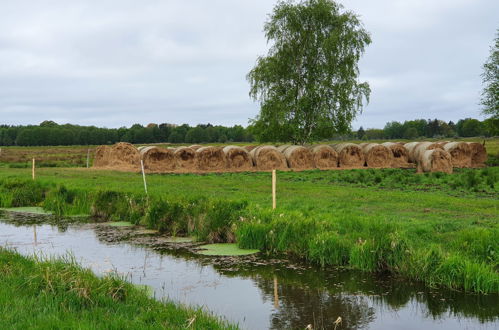
[[[248,73],[259,140],[304,143],[345,133],[369,101],[358,61],[371,43],[358,17],[332,0],[280,1],[265,23],[272,46]]]

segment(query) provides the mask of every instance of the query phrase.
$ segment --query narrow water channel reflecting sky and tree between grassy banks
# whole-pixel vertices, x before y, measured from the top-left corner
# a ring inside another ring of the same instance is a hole
[[[213,258],[108,242],[92,224],[36,225],[35,238],[33,225],[3,219],[0,245],[24,255],[70,254],[98,275],[117,272],[152,287],[158,299],[201,306],[243,329],[333,329],[338,317],[337,329],[499,329],[499,295],[259,256]]]

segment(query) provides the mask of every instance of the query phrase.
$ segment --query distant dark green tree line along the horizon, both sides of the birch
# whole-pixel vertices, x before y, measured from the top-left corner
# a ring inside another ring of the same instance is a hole
[[[54,145],[99,145],[124,141],[130,143],[227,143],[253,142],[252,130],[235,125],[232,127],[211,124],[189,126],[187,124],[135,124],[130,128],[99,128],[95,126],[59,125],[44,121],[40,125],[0,125],[0,146],[54,146]],[[409,120],[404,123],[389,122],[383,129],[364,129],[330,139],[417,139],[456,138],[499,135],[499,119],[461,119],[457,123],[438,119]]]

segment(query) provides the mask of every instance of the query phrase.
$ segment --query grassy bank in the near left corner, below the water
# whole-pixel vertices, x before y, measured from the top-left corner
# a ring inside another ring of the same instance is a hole
[[[162,303],[72,261],[40,261],[0,248],[0,315],[9,329],[236,328],[201,310]]]

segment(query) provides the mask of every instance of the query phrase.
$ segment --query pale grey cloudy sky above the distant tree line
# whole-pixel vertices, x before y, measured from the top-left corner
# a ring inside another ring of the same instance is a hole
[[[0,0],[0,124],[246,125],[270,0]],[[353,123],[480,117],[497,0],[343,0],[373,43]]]

